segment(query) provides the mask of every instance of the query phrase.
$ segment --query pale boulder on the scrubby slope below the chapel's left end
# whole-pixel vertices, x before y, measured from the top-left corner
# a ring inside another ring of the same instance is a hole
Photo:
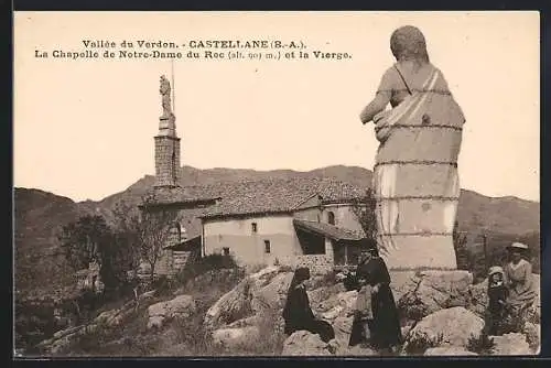
[[[191,295],[180,295],[168,302],[161,302],[148,307],[148,328],[161,327],[174,318],[187,318],[195,312],[195,301]]]

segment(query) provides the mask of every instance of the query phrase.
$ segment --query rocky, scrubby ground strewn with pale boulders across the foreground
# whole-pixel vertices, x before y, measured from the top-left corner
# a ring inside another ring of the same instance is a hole
[[[298,331],[283,334],[282,309],[292,272],[268,267],[242,278],[236,269],[209,271],[139,304],[101,313],[90,323],[40,344],[46,356],[377,356],[369,346],[348,347],[357,291],[336,274],[313,275],[307,293],[314,314],[335,338]],[[540,283],[538,275],[534,282]],[[391,272],[400,315],[400,356],[533,355],[541,344],[541,300],[520,329],[483,336],[487,281],[467,271]]]

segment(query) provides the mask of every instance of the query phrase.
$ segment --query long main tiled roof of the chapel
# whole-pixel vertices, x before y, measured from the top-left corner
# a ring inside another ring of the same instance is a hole
[[[208,196],[222,197],[207,209],[205,218],[237,215],[290,213],[314,195],[323,203],[350,201],[365,195],[365,190],[348,183],[327,178],[262,180],[231,183],[216,190],[203,187]]]

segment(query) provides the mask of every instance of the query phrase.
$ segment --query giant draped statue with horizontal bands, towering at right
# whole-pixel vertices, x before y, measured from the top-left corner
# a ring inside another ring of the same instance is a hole
[[[465,118],[420,30],[399,28],[390,50],[397,63],[360,113],[364,125],[375,122],[380,142],[372,183],[379,249],[391,269],[456,269],[452,232]]]

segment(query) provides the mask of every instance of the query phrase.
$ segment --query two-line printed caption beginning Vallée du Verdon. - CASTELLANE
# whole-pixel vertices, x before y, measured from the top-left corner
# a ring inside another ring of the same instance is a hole
[[[328,43],[327,43],[328,44]],[[78,47],[35,48],[36,58],[56,59],[347,59],[352,54],[312,50],[301,40],[82,40]]]

